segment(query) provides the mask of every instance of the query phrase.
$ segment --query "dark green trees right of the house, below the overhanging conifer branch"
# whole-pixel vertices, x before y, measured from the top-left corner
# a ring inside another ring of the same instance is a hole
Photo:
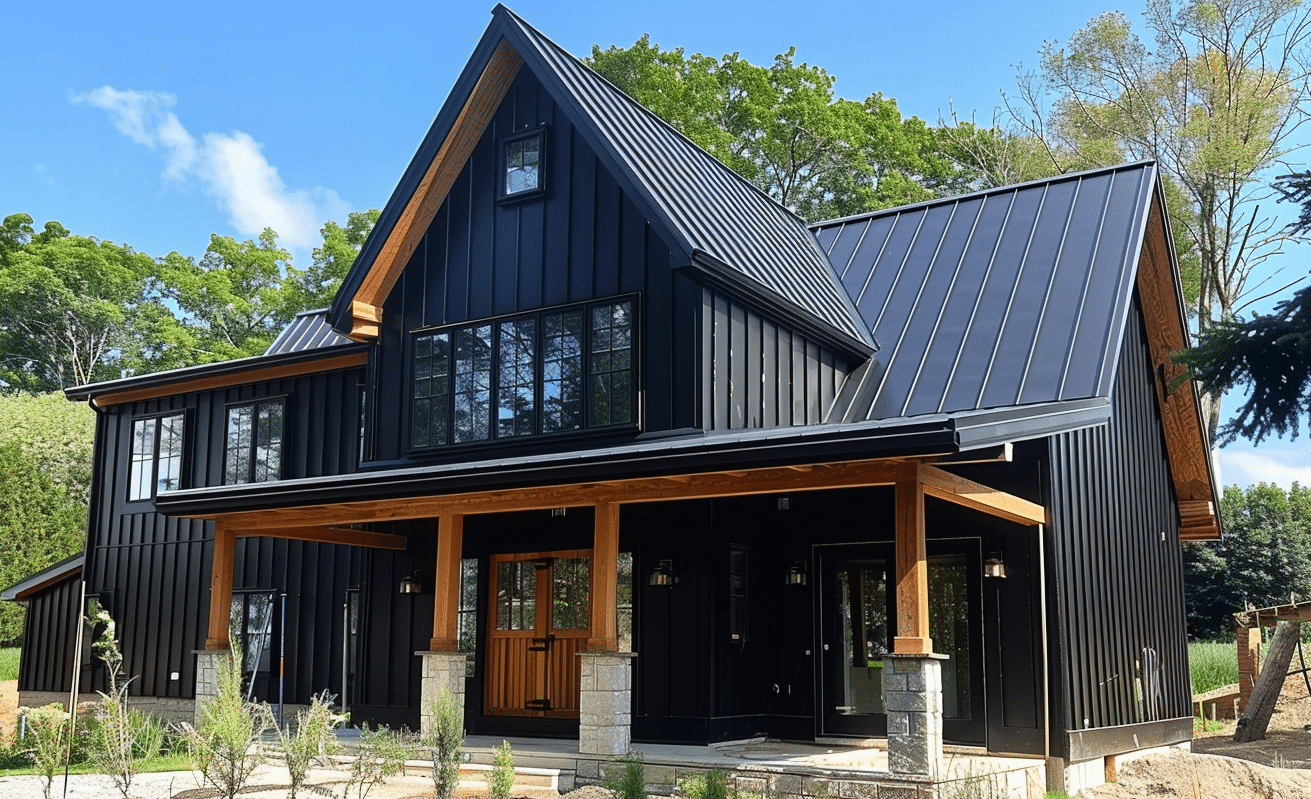
[[[1234,634],[1234,613],[1311,597],[1311,488],[1230,485],[1221,497],[1224,539],[1184,547],[1188,632]]]

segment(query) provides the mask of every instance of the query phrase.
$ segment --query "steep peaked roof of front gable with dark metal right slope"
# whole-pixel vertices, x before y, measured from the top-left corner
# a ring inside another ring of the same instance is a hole
[[[874,342],[805,223],[503,5],[346,276],[329,321],[378,336],[382,306],[514,83],[528,68],[682,265],[830,342]],[[675,264],[679,265],[679,264]]]

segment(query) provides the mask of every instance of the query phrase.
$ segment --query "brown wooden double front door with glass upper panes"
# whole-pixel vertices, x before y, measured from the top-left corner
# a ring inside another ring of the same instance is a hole
[[[492,556],[484,712],[578,718],[591,550]]]

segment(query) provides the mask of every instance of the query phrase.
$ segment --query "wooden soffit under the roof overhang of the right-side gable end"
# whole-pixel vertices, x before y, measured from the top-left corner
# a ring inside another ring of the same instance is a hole
[[[1192,380],[1185,379],[1186,367],[1172,358],[1188,346],[1188,331],[1180,319],[1177,281],[1169,265],[1165,219],[1159,199],[1154,199],[1138,264],[1137,289],[1171,481],[1179,500],[1180,538],[1217,539],[1219,525],[1210,504],[1214,485],[1201,408]]]

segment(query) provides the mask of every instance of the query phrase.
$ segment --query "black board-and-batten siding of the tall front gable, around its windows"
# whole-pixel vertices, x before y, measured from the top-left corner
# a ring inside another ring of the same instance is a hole
[[[539,126],[544,194],[498,201],[501,136]],[[372,457],[408,454],[413,331],[619,295],[637,300],[642,429],[700,426],[701,293],[671,257],[561,108],[520,71],[383,307],[378,408],[401,424],[379,425]]]

